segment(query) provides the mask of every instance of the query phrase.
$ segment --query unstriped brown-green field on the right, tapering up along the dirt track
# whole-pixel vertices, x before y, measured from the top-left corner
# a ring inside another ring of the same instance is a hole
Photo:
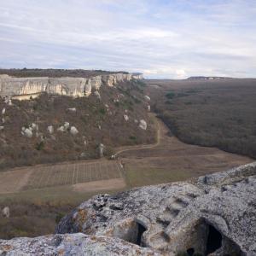
[[[218,148],[182,143],[160,119],[155,119],[159,125],[158,143],[119,154],[130,187],[181,181],[254,161]]]

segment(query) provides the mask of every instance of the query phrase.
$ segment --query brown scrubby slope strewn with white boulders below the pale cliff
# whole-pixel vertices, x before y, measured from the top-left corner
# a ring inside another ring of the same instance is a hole
[[[45,93],[10,106],[1,100],[0,168],[97,158],[101,143],[106,155],[116,146],[153,143],[143,88],[131,80],[101,86],[89,97]]]

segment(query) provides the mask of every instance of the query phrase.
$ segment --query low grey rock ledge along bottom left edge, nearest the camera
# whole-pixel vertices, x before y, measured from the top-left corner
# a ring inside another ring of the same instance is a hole
[[[0,255],[5,256],[160,256],[150,248],[138,247],[127,241],[107,236],[87,236],[81,233],[14,238],[0,240]]]

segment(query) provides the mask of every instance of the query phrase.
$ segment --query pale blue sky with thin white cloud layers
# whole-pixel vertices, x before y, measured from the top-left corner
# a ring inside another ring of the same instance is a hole
[[[0,67],[256,77],[256,0],[0,0]]]

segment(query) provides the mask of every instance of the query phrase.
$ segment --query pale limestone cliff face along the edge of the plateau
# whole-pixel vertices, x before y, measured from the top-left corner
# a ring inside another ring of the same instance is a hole
[[[13,99],[29,99],[42,92],[67,96],[90,96],[92,90],[99,90],[102,84],[114,86],[131,79],[142,79],[141,74],[113,73],[85,78],[14,78],[0,75],[0,96]]]

